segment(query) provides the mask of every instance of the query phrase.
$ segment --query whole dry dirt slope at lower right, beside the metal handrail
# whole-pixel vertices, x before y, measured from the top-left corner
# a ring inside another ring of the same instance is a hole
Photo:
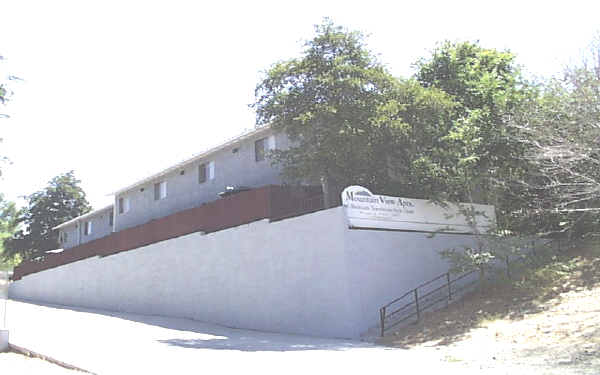
[[[570,254],[526,278],[474,292],[379,343],[435,350],[449,362],[482,369],[527,366],[539,373],[599,374],[597,251]]]

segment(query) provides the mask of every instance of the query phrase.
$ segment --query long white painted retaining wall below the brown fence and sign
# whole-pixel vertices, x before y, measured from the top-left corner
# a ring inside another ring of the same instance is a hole
[[[343,208],[187,236],[25,276],[12,298],[357,338],[378,308],[445,272],[462,235],[350,230]]]

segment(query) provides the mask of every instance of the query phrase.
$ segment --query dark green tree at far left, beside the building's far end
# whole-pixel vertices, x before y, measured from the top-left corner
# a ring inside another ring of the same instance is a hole
[[[52,228],[91,210],[80,183],[70,171],[27,196],[27,207],[19,217],[23,229],[5,241],[5,255],[31,259],[58,248],[58,234]]]

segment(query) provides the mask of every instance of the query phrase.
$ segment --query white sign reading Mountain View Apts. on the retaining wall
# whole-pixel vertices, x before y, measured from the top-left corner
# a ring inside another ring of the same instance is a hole
[[[484,233],[496,221],[494,206],[461,203],[442,207],[425,199],[375,195],[362,186],[344,189],[342,204],[351,228]],[[475,226],[462,213],[465,210],[475,213]]]

